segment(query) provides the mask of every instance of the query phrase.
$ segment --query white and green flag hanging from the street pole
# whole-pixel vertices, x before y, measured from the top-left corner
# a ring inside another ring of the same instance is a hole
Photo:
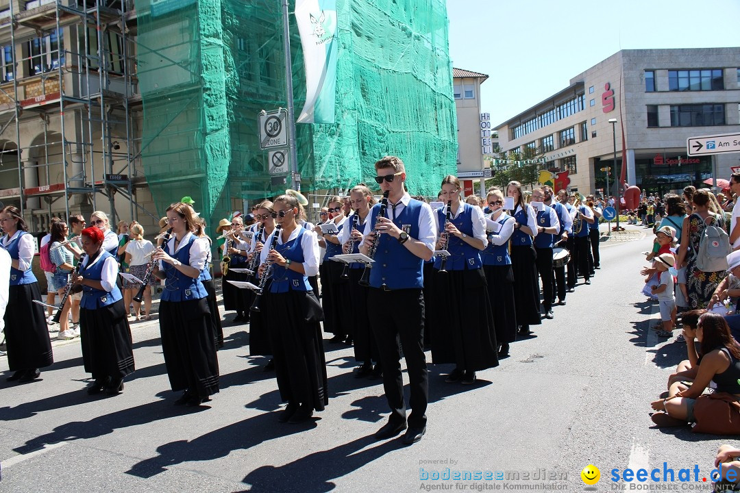
[[[337,0],[296,0],[306,67],[306,104],[297,123],[334,123],[337,92]]]

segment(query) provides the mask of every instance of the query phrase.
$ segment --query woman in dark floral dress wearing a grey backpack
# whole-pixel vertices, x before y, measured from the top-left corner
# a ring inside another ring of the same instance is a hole
[[[680,268],[684,262],[686,263],[686,288],[690,308],[706,307],[717,285],[727,275],[727,259],[724,259],[724,268],[702,270],[705,268],[704,265],[711,263],[711,259],[707,258],[707,247],[702,245],[704,231],[709,226],[716,226],[713,231],[724,231],[724,217],[709,210],[709,194],[710,192],[704,189],[693,194],[693,214],[685,218],[682,225],[681,246],[676,265]],[[724,237],[727,238],[727,233]],[[729,247],[729,242],[727,246]],[[727,251],[724,255],[729,253]]]

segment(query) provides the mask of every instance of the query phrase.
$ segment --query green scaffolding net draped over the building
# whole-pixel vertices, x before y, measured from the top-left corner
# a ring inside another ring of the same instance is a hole
[[[288,187],[271,180],[258,129],[260,110],[287,106],[281,1],[135,6],[141,157],[158,213],[189,195],[215,225],[244,201],[282,193]],[[297,115],[305,75],[289,21]],[[296,126],[301,190],[371,183],[374,162],[394,154],[411,194],[436,195],[457,163],[445,2],[337,0],[337,28],[337,116]]]

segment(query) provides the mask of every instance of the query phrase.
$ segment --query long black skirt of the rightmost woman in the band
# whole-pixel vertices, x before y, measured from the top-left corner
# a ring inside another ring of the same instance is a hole
[[[529,246],[511,247],[511,271],[514,273],[514,298],[517,324],[539,325],[539,279],[534,263],[534,250]]]

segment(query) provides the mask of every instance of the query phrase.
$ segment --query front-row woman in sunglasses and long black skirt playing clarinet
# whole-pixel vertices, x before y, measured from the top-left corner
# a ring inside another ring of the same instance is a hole
[[[265,262],[270,262],[272,271],[270,294],[260,303],[266,302],[261,306],[269,313],[277,388],[283,401],[288,401],[278,419],[301,423],[329,404],[319,324],[323,313],[308,279],[318,271],[319,245],[313,231],[298,225],[302,207],[295,197],[280,195],[273,207],[282,229],[266,240],[275,248],[263,248],[260,253],[260,276],[267,275]]]

